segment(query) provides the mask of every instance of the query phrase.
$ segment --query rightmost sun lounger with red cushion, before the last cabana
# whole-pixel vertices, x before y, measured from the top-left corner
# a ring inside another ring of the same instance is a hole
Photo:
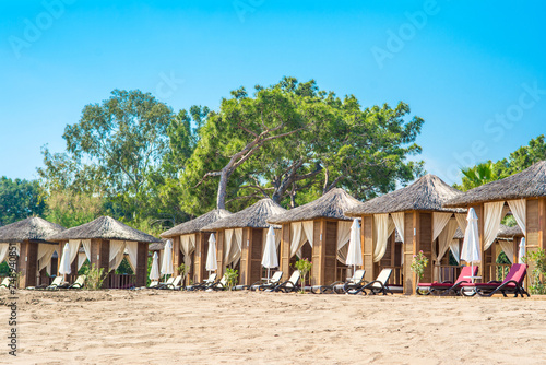
[[[527,274],[527,266],[525,263],[514,263],[510,268],[507,276],[502,282],[490,281],[488,283],[462,283],[461,294],[464,296],[473,296],[475,294],[479,296],[492,296],[497,293],[501,293],[503,296],[507,294],[530,296],[529,293],[523,289],[523,280]]]

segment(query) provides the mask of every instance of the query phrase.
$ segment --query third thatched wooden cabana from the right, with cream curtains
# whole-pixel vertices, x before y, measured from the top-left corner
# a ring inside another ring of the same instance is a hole
[[[296,256],[313,262],[312,285],[327,285],[347,276],[345,258],[352,220],[343,214],[360,202],[345,190],[334,188],[305,205],[272,216],[282,225],[281,270],[288,279]]]

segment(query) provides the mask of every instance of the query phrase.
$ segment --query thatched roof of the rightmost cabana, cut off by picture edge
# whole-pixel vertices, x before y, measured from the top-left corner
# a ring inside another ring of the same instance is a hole
[[[488,201],[546,197],[546,161],[521,173],[463,192],[443,207],[468,207]]]

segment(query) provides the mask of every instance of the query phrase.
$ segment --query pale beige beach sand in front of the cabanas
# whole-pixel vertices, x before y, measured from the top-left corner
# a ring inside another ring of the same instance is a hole
[[[546,301],[254,292],[17,292],[12,364],[544,364]],[[538,299],[537,299],[538,298]]]

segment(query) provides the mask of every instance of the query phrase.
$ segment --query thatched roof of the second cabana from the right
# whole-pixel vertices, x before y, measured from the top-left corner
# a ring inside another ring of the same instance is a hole
[[[442,208],[443,202],[461,193],[438,176],[429,174],[405,188],[360,203],[346,211],[345,215],[359,216],[407,211],[464,212],[462,209]]]

